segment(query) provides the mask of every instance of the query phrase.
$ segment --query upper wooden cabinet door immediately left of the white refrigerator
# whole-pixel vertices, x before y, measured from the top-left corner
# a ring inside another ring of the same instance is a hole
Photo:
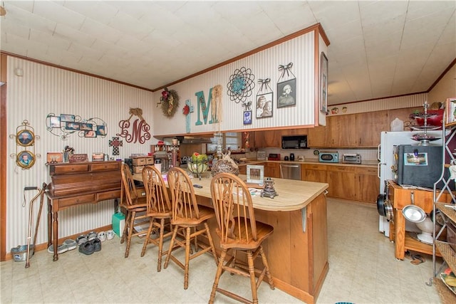
[[[388,111],[356,114],[356,144],[360,147],[377,147],[380,132],[388,129]]]

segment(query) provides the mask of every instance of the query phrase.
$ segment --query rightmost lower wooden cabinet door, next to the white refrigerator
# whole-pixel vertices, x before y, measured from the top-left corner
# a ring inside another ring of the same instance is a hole
[[[356,199],[377,204],[378,184],[380,179],[375,168],[356,168]]]

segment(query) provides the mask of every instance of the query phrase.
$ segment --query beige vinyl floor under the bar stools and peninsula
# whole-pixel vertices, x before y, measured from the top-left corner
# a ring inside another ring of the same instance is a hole
[[[375,206],[328,198],[329,272],[316,303],[440,303],[432,277],[432,256],[425,263],[394,257],[393,243],[378,232]],[[142,239],[135,238],[130,256],[116,236],[90,256],[68,251],[52,261],[38,251],[25,262],[1,262],[1,298],[5,303],[207,303],[216,265],[204,255],[190,263],[190,283],[170,262],[157,273],[157,248],[140,257]],[[274,271],[274,270],[273,270]],[[249,295],[247,278],[222,276],[221,283]],[[302,303],[262,283],[260,303]],[[216,303],[235,303],[217,293]]]

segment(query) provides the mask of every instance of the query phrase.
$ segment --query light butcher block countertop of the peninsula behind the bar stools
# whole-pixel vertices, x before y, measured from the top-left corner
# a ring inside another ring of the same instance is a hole
[[[207,172],[206,174],[210,176],[210,172]],[[195,177],[192,179],[193,184],[199,184],[202,186],[200,189],[194,188],[196,195],[211,198],[211,177],[202,177],[201,179]],[[247,176],[242,174],[239,174],[239,177],[243,180],[247,179]],[[142,181],[142,176],[140,173],[137,173],[133,175],[133,179]],[[279,195],[275,196],[274,199],[261,197],[259,194],[253,195],[252,202],[255,209],[266,211],[299,210],[307,206],[328,188],[328,184],[326,183],[303,182],[279,178],[275,178],[273,180],[274,189]]]

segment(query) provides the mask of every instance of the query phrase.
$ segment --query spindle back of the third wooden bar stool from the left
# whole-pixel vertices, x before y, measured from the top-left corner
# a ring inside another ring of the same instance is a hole
[[[199,219],[199,209],[193,184],[184,169],[172,167],[167,174],[171,192],[173,224],[182,225]]]

